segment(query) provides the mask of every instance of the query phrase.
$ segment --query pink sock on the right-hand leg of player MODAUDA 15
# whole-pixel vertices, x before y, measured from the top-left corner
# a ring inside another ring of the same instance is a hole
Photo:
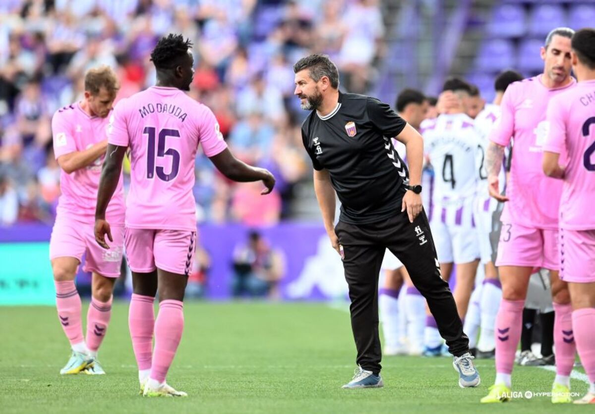
[[[151,365],[151,380],[163,383],[176,356],[184,330],[183,302],[161,301],[155,321],[155,352]]]

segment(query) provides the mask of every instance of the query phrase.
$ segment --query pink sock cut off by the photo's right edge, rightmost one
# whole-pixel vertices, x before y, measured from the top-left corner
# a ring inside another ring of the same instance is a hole
[[[591,384],[595,383],[595,308],[577,309],[572,312],[574,340],[577,343],[578,356]],[[557,352],[556,352],[557,353]],[[558,355],[556,355],[556,362]]]

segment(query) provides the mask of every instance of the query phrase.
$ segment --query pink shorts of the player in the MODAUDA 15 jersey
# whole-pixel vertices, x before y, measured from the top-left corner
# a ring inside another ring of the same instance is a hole
[[[126,227],[126,258],[130,270],[150,273],[159,268],[188,276],[196,250],[196,232]]]

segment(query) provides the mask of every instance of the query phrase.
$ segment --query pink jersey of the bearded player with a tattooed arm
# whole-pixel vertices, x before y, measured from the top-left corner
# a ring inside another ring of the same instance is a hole
[[[544,175],[541,169],[543,144],[547,137],[547,103],[570,84],[549,89],[541,75],[512,83],[502,99],[502,115],[490,134],[490,140],[503,147],[512,143],[510,198],[502,212],[502,222],[518,223],[537,229],[558,229],[558,211],[562,182]]]

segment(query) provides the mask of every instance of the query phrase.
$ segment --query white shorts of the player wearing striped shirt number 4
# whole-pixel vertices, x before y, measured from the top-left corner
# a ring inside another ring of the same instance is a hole
[[[469,198],[458,204],[436,204],[430,228],[440,263],[463,264],[480,258],[473,201]]]

